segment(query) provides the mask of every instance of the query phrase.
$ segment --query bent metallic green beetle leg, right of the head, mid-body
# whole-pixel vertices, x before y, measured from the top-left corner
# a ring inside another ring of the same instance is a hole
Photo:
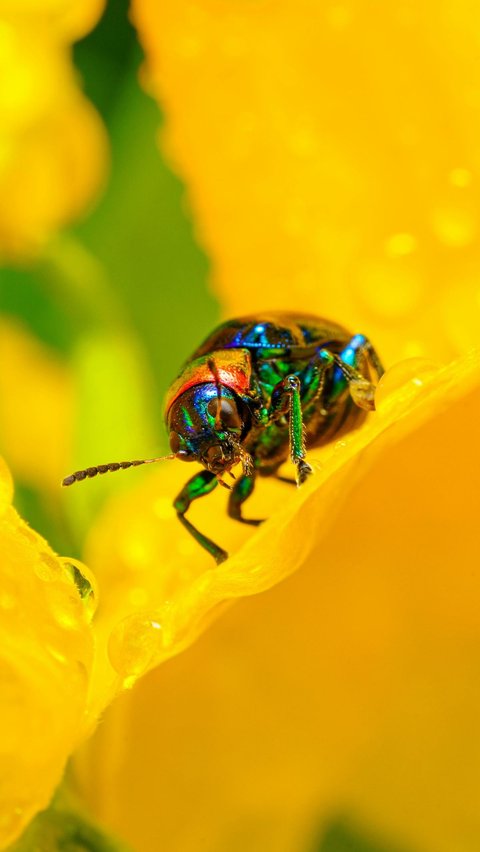
[[[300,388],[298,376],[287,376],[274,388],[269,411],[271,420],[278,419],[282,414],[288,413],[289,415],[290,458],[297,468],[297,485],[305,482],[307,476],[313,472],[308,462],[305,461],[305,430]]]

